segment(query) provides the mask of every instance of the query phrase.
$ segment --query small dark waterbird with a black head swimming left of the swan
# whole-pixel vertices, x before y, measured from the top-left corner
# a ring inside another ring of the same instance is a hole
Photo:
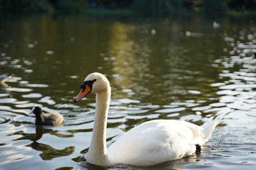
[[[35,125],[61,126],[64,122],[62,114],[54,111],[43,113],[41,108],[36,106],[32,108],[31,114],[35,114]]]

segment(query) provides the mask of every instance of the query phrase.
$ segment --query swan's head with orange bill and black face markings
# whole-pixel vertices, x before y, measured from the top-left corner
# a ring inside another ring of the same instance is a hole
[[[74,99],[74,102],[80,101],[90,93],[100,93],[110,88],[110,82],[105,76],[98,72],[93,72],[84,79],[80,85],[81,91]]]

